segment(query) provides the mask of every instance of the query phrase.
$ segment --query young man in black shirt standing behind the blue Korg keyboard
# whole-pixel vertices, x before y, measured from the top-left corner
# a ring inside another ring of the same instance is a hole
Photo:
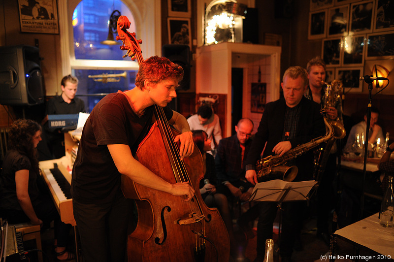
[[[45,115],[63,115],[85,113],[85,103],[76,98],[78,79],[72,75],[66,75],[61,82],[62,95],[49,99],[46,103]],[[47,131],[48,145],[54,159],[65,155],[64,134],[60,129]]]

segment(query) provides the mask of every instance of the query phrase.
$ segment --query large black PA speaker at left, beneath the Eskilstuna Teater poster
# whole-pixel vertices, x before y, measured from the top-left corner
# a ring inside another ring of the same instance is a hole
[[[35,105],[44,101],[38,48],[0,47],[0,104]]]

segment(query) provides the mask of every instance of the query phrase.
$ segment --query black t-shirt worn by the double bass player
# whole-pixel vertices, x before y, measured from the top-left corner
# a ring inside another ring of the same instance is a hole
[[[138,116],[122,92],[102,98],[93,108],[82,131],[72,168],[71,194],[81,203],[109,203],[121,193],[121,175],[107,145],[125,144],[135,155],[152,123],[154,106]],[[164,107],[167,119],[172,110]]]

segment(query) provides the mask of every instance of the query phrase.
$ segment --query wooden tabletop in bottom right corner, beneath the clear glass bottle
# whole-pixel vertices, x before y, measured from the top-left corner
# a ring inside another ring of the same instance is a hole
[[[376,260],[394,259],[394,227],[384,228],[380,226],[378,215],[378,213],[373,214],[354,224],[338,229],[335,231],[334,237],[339,236],[354,245],[362,246],[387,256],[378,257],[376,255]]]

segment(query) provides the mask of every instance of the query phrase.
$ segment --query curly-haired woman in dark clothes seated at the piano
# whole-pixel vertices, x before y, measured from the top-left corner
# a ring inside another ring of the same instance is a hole
[[[30,222],[41,228],[54,221],[57,260],[74,259],[75,255],[66,251],[71,226],[60,220],[51,197],[39,188],[36,147],[41,141],[41,126],[33,120],[16,120],[8,135],[8,151],[0,175],[0,216],[8,223]]]

